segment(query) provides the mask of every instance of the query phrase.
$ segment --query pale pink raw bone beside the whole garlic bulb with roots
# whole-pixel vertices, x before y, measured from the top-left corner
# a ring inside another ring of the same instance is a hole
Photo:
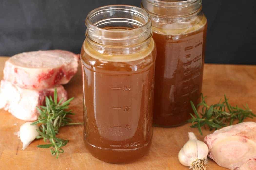
[[[256,123],[244,122],[216,130],[204,142],[209,157],[219,166],[236,170],[256,170]]]

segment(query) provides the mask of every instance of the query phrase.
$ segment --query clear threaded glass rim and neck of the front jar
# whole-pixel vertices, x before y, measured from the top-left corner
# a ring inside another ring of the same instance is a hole
[[[131,5],[96,8],[88,13],[85,25],[86,37],[102,45],[134,45],[143,42],[152,33],[149,13]]]

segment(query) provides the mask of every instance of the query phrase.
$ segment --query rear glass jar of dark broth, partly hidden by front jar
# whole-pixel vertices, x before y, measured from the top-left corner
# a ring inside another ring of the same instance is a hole
[[[184,124],[200,101],[207,20],[201,0],[142,0],[157,47],[153,122]]]

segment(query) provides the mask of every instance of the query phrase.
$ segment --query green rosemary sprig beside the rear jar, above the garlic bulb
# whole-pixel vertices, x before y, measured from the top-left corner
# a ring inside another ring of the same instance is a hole
[[[199,113],[197,112],[197,109],[192,101],[191,107],[195,113],[195,116],[190,113],[192,118],[188,120],[188,122],[191,122],[192,125],[191,128],[198,128],[200,134],[202,135],[201,127],[207,125],[210,130],[212,129],[219,129],[227,124],[232,125],[233,121],[238,120],[238,123],[241,123],[244,121],[246,117],[253,118],[256,115],[252,113],[252,110],[246,106],[243,106],[243,108],[239,108],[236,106],[231,106],[228,102],[228,99],[226,95],[224,95],[224,101],[221,102],[221,99],[219,103],[213,104],[208,106],[205,102],[205,98],[201,94],[202,101],[197,105],[197,107],[202,106],[202,112],[201,117],[199,116]]]

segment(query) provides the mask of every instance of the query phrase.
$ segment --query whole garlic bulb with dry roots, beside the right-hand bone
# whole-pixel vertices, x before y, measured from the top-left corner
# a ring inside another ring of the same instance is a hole
[[[206,160],[209,152],[208,146],[197,140],[194,133],[188,133],[189,140],[179,151],[179,162],[193,170],[206,169]]]

